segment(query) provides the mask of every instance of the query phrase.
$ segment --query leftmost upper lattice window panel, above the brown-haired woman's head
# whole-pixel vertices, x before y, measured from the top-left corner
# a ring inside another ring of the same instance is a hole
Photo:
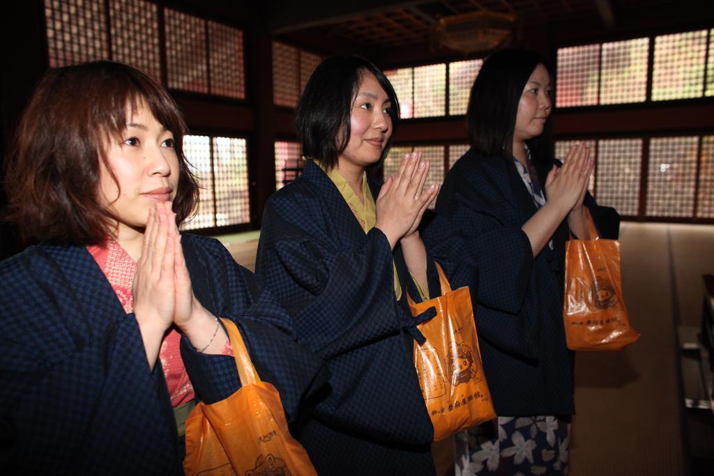
[[[45,0],[44,8],[51,68],[109,59],[103,0]]]

